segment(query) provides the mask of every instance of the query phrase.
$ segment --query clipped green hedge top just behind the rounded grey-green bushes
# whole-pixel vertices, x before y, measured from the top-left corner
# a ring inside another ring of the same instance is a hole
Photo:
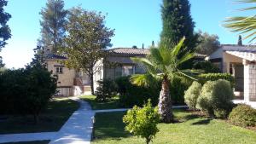
[[[224,79],[230,82],[231,87],[235,86],[235,78],[229,73],[204,73],[198,76],[201,84],[207,83],[207,81],[216,81],[218,79]]]

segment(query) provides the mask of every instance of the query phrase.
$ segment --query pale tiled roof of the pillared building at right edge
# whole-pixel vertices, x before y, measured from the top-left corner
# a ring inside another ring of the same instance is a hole
[[[256,45],[233,45],[233,44],[224,44],[222,45],[224,51],[239,51],[247,53],[256,53]]]

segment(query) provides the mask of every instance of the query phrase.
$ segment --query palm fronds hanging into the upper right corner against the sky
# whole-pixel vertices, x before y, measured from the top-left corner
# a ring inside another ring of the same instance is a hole
[[[236,0],[239,3],[250,3],[252,7],[240,9],[241,11],[256,10],[256,0]],[[224,20],[224,27],[229,28],[231,32],[240,32],[247,34],[244,39],[252,37],[250,43],[256,39],[256,15],[252,16],[235,16]]]

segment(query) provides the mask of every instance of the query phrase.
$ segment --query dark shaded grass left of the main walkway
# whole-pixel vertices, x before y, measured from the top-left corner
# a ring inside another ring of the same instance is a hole
[[[32,116],[8,116],[0,122],[0,134],[58,131],[78,108],[77,101],[55,99],[39,115],[38,124],[34,124]]]

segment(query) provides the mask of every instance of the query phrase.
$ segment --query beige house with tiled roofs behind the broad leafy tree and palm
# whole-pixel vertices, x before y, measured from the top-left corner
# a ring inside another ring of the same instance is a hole
[[[94,74],[94,91],[98,87],[97,81],[104,78],[115,79],[132,74],[146,72],[143,65],[131,60],[132,57],[145,57],[149,54],[149,49],[138,48],[115,48],[108,49],[108,57],[98,60],[95,69],[99,69]],[[205,55],[197,54],[195,60],[204,60]],[[67,59],[61,55],[47,55],[46,63],[48,70],[58,76],[57,95],[90,95],[90,78],[81,71],[68,69],[61,65],[59,60]]]

